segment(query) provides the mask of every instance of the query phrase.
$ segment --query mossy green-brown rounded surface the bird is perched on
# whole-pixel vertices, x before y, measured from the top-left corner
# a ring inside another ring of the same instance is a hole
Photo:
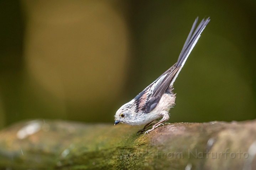
[[[0,169],[256,169],[256,120],[142,127],[32,120],[0,131]]]

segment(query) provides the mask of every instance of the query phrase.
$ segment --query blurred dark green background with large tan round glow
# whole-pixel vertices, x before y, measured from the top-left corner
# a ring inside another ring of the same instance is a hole
[[[256,118],[256,1],[0,1],[0,128],[114,123],[210,16],[174,83],[169,122]]]

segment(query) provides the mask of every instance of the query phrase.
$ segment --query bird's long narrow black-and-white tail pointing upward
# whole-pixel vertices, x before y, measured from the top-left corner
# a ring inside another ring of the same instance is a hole
[[[170,86],[173,85],[174,81],[178,77],[179,72],[181,71],[182,67],[184,66],[190,52],[193,50],[195,44],[197,44],[198,39],[200,38],[201,33],[203,32],[204,28],[210,21],[210,17],[203,19],[199,25],[196,27],[198,21],[198,17],[195,19],[193,26],[188,34],[188,37],[185,41],[185,44],[182,47],[181,53],[179,54],[178,61],[176,62],[176,68],[178,68],[176,74],[171,80]]]

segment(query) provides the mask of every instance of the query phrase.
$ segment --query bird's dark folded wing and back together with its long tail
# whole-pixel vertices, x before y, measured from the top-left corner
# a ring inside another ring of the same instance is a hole
[[[200,34],[202,33],[205,26],[208,24],[210,19],[203,19],[199,23],[198,27],[195,29],[197,21],[198,17],[195,19],[193,26],[185,41],[185,44],[182,47],[181,53],[178,57],[178,61],[134,98],[136,102],[137,112],[151,112],[153,109],[156,108],[158,102],[160,101],[164,92],[166,92],[168,86],[172,86],[177,75],[179,74],[179,71],[183,67],[184,62],[187,60],[189,53],[193,49],[194,45],[200,37]]]

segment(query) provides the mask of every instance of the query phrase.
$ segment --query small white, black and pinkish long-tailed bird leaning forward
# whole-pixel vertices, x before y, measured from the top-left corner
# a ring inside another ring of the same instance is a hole
[[[130,102],[122,105],[114,115],[115,123],[125,123],[133,126],[145,125],[138,133],[146,131],[153,121],[162,117],[160,121],[152,125],[146,133],[153,131],[163,121],[169,119],[169,110],[174,106],[176,94],[173,93],[173,83],[184,66],[190,52],[194,48],[201,33],[210,21],[210,17],[202,19],[197,25],[198,17],[195,19],[188,37],[182,47],[177,62],[148,85]]]

